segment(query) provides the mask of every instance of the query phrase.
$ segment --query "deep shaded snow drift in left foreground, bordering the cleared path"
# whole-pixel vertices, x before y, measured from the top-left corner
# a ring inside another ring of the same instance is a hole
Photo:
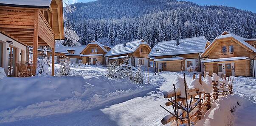
[[[71,76],[5,77],[0,80],[0,122],[89,110],[115,99],[155,88],[163,78],[149,74],[146,85],[110,79],[105,68],[71,67]]]

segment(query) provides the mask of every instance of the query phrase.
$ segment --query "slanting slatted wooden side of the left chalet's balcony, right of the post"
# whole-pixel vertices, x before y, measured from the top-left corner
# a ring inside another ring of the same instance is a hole
[[[45,41],[50,47],[54,47],[54,32],[41,11],[39,11],[38,18],[38,36],[42,38],[42,40]]]

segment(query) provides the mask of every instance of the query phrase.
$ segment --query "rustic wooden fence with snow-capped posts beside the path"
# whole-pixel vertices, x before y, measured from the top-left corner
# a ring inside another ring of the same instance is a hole
[[[184,82],[186,83],[184,74]],[[193,79],[195,79],[195,74]],[[222,77],[223,78],[223,77]],[[226,79],[226,78],[225,78]],[[219,96],[225,96],[232,94],[232,83],[233,80],[228,78],[228,82],[213,82],[213,90],[210,93],[199,92],[199,89],[192,88],[188,89],[185,86],[186,98],[180,97],[181,92],[176,92],[175,86],[174,91],[164,95],[164,98],[168,99],[165,103],[166,107],[172,106],[174,112],[170,112],[165,107],[164,110],[170,113],[162,119],[162,124],[170,123],[171,126],[191,126],[196,124],[205,113],[211,109],[211,101],[218,99]],[[202,85],[202,74],[199,76],[199,82]],[[190,102],[188,102],[188,99]],[[180,112],[179,112],[180,111]],[[188,118],[189,117],[189,118]]]

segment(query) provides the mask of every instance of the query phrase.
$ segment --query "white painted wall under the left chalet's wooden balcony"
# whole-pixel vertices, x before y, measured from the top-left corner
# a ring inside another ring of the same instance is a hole
[[[2,33],[0,33],[0,41],[3,42],[3,68],[7,75],[8,74],[8,55],[9,55],[9,50],[7,50],[7,48],[9,48],[10,45],[17,48],[16,58],[17,58],[17,62],[18,62],[18,61],[25,61],[27,47],[24,46],[23,44],[20,44],[19,42],[15,41],[14,39],[11,39],[8,36],[5,36]],[[9,44],[6,41],[13,41],[13,44]],[[21,59],[21,55],[20,55],[22,50],[24,52],[22,54],[23,59]]]

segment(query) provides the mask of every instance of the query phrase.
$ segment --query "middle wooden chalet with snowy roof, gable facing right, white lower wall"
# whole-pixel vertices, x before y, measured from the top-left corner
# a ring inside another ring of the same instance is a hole
[[[142,65],[143,67],[149,66],[149,58],[147,57],[151,48],[149,44],[143,40],[131,41],[123,44],[117,44],[113,47],[105,57],[107,57],[107,63],[117,61],[117,63],[123,63],[124,59],[129,59],[129,63],[132,66]]]

